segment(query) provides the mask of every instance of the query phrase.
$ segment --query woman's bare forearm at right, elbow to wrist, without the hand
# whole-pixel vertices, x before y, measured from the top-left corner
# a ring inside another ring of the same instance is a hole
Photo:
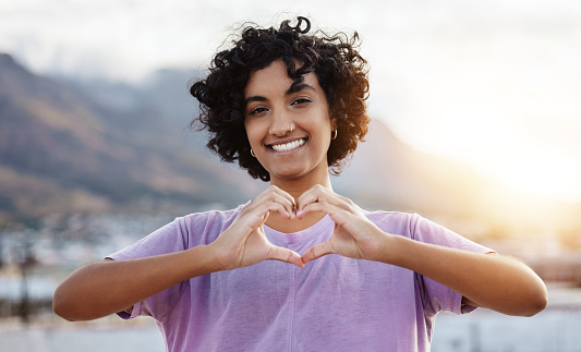
[[[387,251],[378,260],[401,266],[462,294],[464,303],[504,314],[532,316],[547,305],[544,282],[523,263],[385,235]],[[467,302],[468,300],[468,302]]]

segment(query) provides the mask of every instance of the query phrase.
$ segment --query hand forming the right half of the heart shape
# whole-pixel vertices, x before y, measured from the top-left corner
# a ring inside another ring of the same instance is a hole
[[[296,218],[314,211],[328,214],[335,221],[335,231],[327,241],[306,250],[305,264],[327,254],[367,260],[378,260],[387,254],[390,235],[371,222],[351,199],[315,185],[296,199]]]

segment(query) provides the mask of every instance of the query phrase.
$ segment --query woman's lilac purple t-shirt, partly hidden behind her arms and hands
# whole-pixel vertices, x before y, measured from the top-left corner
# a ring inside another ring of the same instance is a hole
[[[242,207],[242,206],[241,206]],[[211,243],[240,213],[177,218],[116,260]],[[491,250],[415,214],[365,211],[383,231],[471,252]],[[268,240],[302,254],[327,240],[334,222]],[[149,315],[168,351],[429,351],[438,312],[465,313],[457,292],[411,270],[327,255],[305,268],[278,260],[183,281],[134,305],[123,318]]]

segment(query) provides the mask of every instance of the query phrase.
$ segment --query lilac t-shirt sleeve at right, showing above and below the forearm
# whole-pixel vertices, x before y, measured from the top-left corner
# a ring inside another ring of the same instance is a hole
[[[494,252],[488,247],[470,241],[458,233],[419,215],[413,215],[411,223],[411,238],[412,240],[423,243],[441,245],[462,251],[483,254]],[[455,314],[463,314],[474,309],[474,307],[469,306],[462,307],[462,295],[437,281],[419,274],[416,274],[416,281],[421,290],[424,308],[427,312],[436,314],[440,311],[444,311]]]

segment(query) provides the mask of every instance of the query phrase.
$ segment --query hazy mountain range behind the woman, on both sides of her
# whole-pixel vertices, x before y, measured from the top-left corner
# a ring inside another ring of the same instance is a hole
[[[0,54],[0,223],[51,213],[181,215],[253,198],[265,183],[220,162],[205,134],[189,130],[197,104],[187,83],[196,75],[160,70],[140,84],[46,77]],[[331,178],[336,192],[362,207],[468,219],[488,233],[578,219],[579,207],[516,194],[411,148],[378,118],[342,174]]]

